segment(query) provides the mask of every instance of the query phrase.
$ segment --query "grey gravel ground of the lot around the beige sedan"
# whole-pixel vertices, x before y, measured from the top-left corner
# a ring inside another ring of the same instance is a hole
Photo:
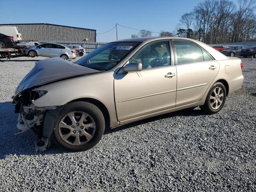
[[[256,60],[224,108],[182,110],[108,130],[86,152],[34,149],[11,96],[36,58],[0,60],[0,191],[256,191]]]

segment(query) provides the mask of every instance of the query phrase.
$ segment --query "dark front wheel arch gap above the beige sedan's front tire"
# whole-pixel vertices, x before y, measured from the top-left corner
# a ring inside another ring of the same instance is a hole
[[[77,102],[77,101],[90,102],[90,103],[96,105],[101,110],[101,112],[104,116],[106,128],[110,128],[110,115],[109,115],[108,109],[102,102],[100,102],[99,100],[94,99],[94,98],[78,98],[78,99],[72,100],[68,103]]]

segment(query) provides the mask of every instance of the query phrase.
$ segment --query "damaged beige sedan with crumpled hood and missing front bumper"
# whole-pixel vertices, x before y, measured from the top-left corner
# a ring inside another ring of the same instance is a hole
[[[95,146],[106,128],[200,106],[215,114],[244,77],[239,58],[188,38],[133,38],[101,46],[72,63],[36,62],[13,96],[20,131],[36,147]]]

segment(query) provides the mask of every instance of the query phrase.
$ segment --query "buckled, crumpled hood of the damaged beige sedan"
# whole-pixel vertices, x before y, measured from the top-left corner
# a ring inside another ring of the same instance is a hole
[[[101,71],[87,68],[62,58],[48,58],[36,62],[34,68],[23,78],[14,92],[14,97],[23,90],[76,76]]]

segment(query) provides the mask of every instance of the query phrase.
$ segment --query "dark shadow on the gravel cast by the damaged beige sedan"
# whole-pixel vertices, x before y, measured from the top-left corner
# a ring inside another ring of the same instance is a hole
[[[140,120],[137,122],[129,123],[120,126],[115,129],[106,129],[104,134],[111,134],[124,129],[132,128],[133,126],[138,126],[140,124],[145,124],[147,122],[152,122],[156,120],[161,120],[164,118],[170,118],[174,116],[201,116],[205,115],[201,110],[197,109],[186,109],[177,112],[172,112],[145,120]],[[0,103],[0,159],[6,158],[8,155],[48,155],[48,154],[60,154],[69,153],[67,150],[59,148],[56,145],[52,145],[45,152],[36,152],[35,144],[36,136],[32,130],[27,130],[26,132],[18,133],[16,127],[18,114],[14,113],[14,106],[12,102],[2,102]]]

